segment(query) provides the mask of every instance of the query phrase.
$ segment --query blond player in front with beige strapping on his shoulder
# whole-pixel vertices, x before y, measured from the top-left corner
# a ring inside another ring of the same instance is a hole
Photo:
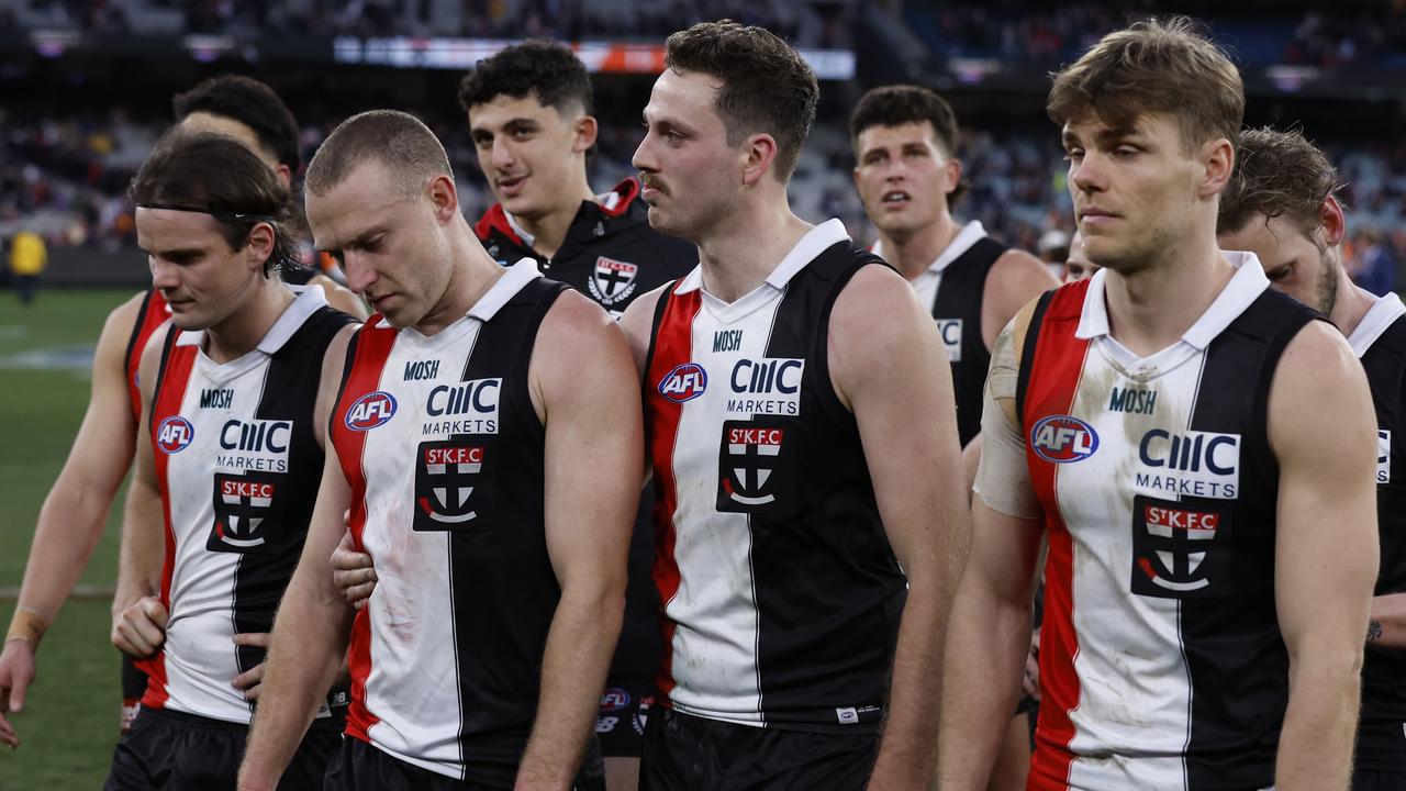
[[[1029,788],[1346,790],[1376,431],[1341,334],[1216,245],[1240,75],[1189,20],[1150,20],[1047,107],[1102,269],[997,342],[939,783],[986,781],[1047,539]]]

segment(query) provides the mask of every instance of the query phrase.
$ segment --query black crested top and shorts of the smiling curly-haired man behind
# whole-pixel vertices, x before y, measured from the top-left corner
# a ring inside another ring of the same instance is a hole
[[[547,276],[591,297],[619,318],[640,294],[683,277],[697,265],[692,242],[650,228],[640,183],[626,179],[595,201],[581,201],[555,258],[533,249],[533,236],[501,204],[478,221],[478,241],[501,263],[530,258]],[[606,756],[640,757],[641,736],[654,702],[659,669],[659,597],[650,581],[654,559],[654,497],[641,497],[630,540],[630,581],[624,624],[610,662],[596,733]]]

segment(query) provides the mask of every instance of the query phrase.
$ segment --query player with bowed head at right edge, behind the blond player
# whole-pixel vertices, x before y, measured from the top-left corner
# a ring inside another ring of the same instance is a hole
[[[1343,269],[1343,179],[1302,132],[1250,129],[1220,196],[1220,246],[1250,251],[1270,283],[1329,317],[1367,370],[1376,405],[1381,570],[1362,662],[1351,787],[1406,788],[1406,305],[1355,286]]]

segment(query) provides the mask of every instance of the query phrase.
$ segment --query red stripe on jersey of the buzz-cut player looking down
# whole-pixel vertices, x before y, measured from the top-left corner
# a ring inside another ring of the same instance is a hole
[[[332,411],[328,426],[332,446],[337,452],[337,463],[342,464],[342,474],[347,486],[352,487],[352,540],[359,552],[366,552],[361,546],[361,532],[366,529],[366,470],[361,466],[363,450],[366,449],[366,431],[354,431],[347,425],[352,407],[367,393],[375,393],[381,384],[381,372],[385,360],[391,356],[395,345],[396,331],[378,328],[381,315],[373,315],[366,325],[357,331],[354,338],[356,353],[352,357],[352,370],[343,373],[342,394],[336,408]],[[371,619],[363,607],[352,622],[352,643],[347,647],[347,669],[352,674],[352,705],[347,707],[347,735],[363,742],[370,742],[367,730],[377,723],[375,715],[366,708],[366,680],[371,674]]]

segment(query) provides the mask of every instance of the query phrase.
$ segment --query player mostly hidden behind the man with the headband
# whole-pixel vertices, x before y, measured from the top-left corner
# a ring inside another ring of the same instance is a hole
[[[177,94],[172,107],[180,128],[224,134],[242,142],[291,187],[299,167],[298,125],[269,86],[243,76],[221,76]],[[325,276],[284,262],[280,276],[322,286],[328,301],[364,317],[366,305]],[[45,498],[14,618],[0,653],[0,743],[18,746],[8,712],[24,708],[37,653],[59,608],[73,591],[103,533],[104,518],[132,463],[141,398],[136,374],[146,341],[169,318],[156,289],[135,294],[108,314],[93,356],[89,407],[63,470]],[[260,642],[262,636],[240,636]],[[247,681],[247,680],[246,680]],[[146,677],[122,656],[121,728],[136,716]]]

